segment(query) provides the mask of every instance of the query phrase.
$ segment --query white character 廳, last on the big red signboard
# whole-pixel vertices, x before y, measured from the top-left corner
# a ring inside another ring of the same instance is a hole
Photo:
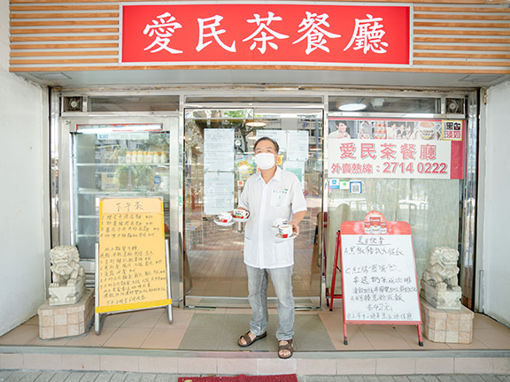
[[[384,48],[388,48],[388,42],[383,42],[383,35],[386,32],[379,21],[383,21],[383,18],[374,18],[371,14],[367,14],[367,19],[356,19],[354,33],[344,51],[353,46],[353,50],[362,49],[365,54],[368,50],[374,53],[386,53]]]

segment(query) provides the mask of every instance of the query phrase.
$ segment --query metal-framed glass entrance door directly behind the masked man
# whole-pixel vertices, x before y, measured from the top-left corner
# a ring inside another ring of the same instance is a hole
[[[257,172],[253,144],[270,136],[281,148],[278,165],[298,176],[308,207],[295,240],[296,306],[320,306],[323,118],[321,108],[185,110],[185,305],[249,306],[243,223],[220,226],[214,218],[237,207],[244,182]],[[275,305],[271,286],[268,296]]]

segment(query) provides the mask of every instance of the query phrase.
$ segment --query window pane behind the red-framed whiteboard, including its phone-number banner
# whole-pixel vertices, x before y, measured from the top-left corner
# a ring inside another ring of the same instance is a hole
[[[466,126],[448,119],[329,118],[328,283],[331,233],[373,210],[411,225],[419,280],[433,248],[460,248]]]

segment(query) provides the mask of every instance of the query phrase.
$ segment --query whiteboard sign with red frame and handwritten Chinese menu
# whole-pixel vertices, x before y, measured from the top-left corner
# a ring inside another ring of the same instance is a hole
[[[411,226],[371,211],[340,226],[340,261],[346,325],[417,325],[421,310]]]

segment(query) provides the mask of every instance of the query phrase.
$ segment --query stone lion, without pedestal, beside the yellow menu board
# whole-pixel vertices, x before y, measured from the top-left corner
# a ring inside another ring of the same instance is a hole
[[[78,302],[85,287],[85,271],[80,265],[78,248],[59,246],[50,250],[50,305]]]

